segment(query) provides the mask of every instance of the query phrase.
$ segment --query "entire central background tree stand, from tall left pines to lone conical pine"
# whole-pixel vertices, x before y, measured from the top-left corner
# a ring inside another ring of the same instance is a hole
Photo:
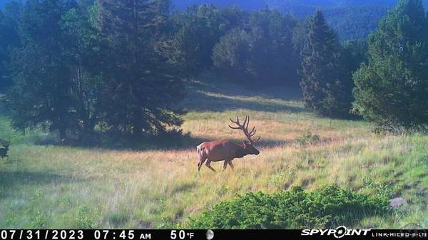
[[[170,60],[183,75],[215,69],[238,83],[297,85],[296,20],[279,11],[201,5],[175,13]]]

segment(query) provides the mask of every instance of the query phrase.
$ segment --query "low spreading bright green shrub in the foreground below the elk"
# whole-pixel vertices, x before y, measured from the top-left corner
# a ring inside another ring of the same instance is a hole
[[[355,225],[364,216],[385,214],[387,197],[370,196],[332,185],[313,192],[301,187],[274,194],[250,192],[215,204],[190,228],[287,229]]]

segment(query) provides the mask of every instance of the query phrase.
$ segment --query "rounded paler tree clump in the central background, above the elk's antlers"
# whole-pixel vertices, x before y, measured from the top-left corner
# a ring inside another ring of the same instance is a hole
[[[295,26],[295,19],[279,11],[251,12],[243,26],[228,31],[215,45],[214,66],[253,85],[297,85],[298,62],[292,45]]]

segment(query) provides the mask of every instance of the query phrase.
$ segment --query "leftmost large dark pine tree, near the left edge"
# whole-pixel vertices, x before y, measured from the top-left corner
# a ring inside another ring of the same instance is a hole
[[[8,93],[16,129],[42,126],[65,139],[78,125],[76,103],[69,95],[73,72],[63,55],[63,43],[69,39],[59,24],[75,4],[26,1],[19,26],[22,46],[14,50],[11,63],[14,87]]]

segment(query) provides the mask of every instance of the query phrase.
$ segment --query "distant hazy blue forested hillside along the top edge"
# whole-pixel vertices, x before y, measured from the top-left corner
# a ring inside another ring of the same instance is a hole
[[[305,18],[317,8],[325,13],[327,23],[332,26],[341,41],[366,38],[377,27],[379,20],[395,0],[173,0],[173,9],[182,11],[188,6],[215,4],[217,6],[239,6],[240,9],[255,10],[268,6],[271,9]],[[427,6],[428,1],[424,1]]]

